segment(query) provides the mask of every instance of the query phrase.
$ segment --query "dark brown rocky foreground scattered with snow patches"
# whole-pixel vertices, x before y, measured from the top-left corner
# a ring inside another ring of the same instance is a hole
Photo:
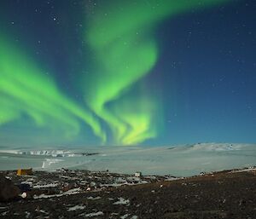
[[[0,173],[24,197],[0,202],[2,218],[256,218],[255,169],[188,178],[87,170]]]

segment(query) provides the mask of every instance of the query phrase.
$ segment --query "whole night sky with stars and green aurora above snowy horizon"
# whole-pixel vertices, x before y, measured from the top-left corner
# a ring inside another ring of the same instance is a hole
[[[256,141],[256,1],[2,0],[0,147]]]

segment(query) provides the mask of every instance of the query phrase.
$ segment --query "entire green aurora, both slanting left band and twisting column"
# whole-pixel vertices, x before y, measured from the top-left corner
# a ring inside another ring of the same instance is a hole
[[[0,126],[19,124],[26,115],[35,129],[58,131],[67,141],[83,135],[81,123],[102,144],[137,145],[156,137],[163,114],[160,96],[147,92],[143,84],[160,55],[154,31],[167,17],[222,2],[102,3],[84,25],[83,37],[93,57],[89,75],[80,78],[84,106],[65,95],[26,49],[0,33]],[[136,95],[131,95],[133,90]]]

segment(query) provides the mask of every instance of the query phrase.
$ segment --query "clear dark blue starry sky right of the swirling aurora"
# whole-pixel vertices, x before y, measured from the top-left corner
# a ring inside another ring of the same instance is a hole
[[[164,143],[255,142],[255,11],[233,1],[160,26]]]

